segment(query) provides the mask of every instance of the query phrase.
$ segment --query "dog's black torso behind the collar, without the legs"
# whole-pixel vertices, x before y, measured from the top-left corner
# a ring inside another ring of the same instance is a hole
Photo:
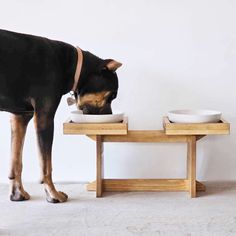
[[[75,66],[69,44],[0,30],[0,110],[33,111],[32,99],[68,92]]]

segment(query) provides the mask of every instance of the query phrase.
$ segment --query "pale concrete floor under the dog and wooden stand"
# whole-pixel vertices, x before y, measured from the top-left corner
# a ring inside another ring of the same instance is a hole
[[[63,204],[45,201],[41,185],[26,184],[26,202],[10,202],[0,185],[0,236],[232,236],[236,235],[236,183],[207,183],[207,192],[108,193],[96,199],[82,184],[57,185]]]

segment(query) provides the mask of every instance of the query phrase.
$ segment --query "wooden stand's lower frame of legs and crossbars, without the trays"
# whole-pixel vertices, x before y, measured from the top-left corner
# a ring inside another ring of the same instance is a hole
[[[94,139],[94,137],[92,137]],[[123,135],[97,135],[97,180],[88,184],[89,191],[96,191],[101,197],[103,191],[187,191],[196,197],[196,191],[204,191],[205,186],[196,181],[196,136],[168,136],[163,131],[128,131]],[[187,143],[187,176],[186,179],[104,179],[103,146],[105,142],[183,142]]]

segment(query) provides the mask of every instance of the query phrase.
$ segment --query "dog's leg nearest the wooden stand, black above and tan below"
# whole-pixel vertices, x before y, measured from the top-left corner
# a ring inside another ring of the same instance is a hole
[[[39,158],[41,159],[42,178],[47,195],[47,201],[51,203],[65,202],[68,196],[58,192],[52,181],[52,143],[54,131],[54,114],[45,111],[35,112],[35,127],[39,147]]]

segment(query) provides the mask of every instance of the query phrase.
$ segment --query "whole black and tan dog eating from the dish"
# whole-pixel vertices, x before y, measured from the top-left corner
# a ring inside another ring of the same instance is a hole
[[[0,110],[11,113],[10,199],[28,200],[21,181],[22,149],[34,116],[47,201],[65,202],[52,181],[54,115],[62,95],[73,91],[86,114],[111,113],[121,63],[103,60],[69,44],[0,30]]]

